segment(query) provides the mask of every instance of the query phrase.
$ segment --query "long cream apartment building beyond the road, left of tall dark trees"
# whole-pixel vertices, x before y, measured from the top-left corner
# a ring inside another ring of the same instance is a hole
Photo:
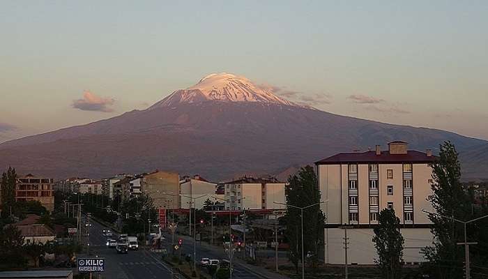
[[[224,187],[225,210],[284,209],[284,186],[284,182],[275,178],[255,179],[244,176],[227,182]]]

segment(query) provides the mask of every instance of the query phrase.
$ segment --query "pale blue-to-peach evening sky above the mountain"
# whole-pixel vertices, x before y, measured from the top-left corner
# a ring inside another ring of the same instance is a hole
[[[488,139],[488,1],[178,2],[1,1],[0,142],[142,110],[218,72]]]

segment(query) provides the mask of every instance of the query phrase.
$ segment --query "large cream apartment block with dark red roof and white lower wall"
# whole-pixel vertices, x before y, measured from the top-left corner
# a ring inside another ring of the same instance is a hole
[[[348,226],[349,264],[374,264],[372,238],[381,209],[395,209],[402,223],[404,261],[424,262],[420,250],[432,245],[431,224],[422,209],[433,211],[432,151],[407,149],[407,143],[390,142],[387,151],[338,153],[319,160],[317,174],[321,204],[326,214],[325,263],[344,264],[344,225]]]

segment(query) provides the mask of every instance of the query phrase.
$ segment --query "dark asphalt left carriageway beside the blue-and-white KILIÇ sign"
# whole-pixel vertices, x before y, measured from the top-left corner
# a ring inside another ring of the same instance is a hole
[[[130,250],[127,254],[117,254],[115,248],[107,248],[106,239],[102,235],[104,227],[91,222],[90,254],[105,258],[105,272],[102,278],[171,278],[170,269],[162,264],[157,255],[146,249]],[[94,276],[94,278],[97,278]]]

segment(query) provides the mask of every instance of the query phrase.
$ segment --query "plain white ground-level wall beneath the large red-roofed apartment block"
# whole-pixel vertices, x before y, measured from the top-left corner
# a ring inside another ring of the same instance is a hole
[[[344,264],[344,229],[325,229],[326,264]],[[420,252],[423,247],[432,245],[432,234],[428,228],[402,229],[404,236],[404,262],[425,262]],[[374,243],[373,229],[347,229],[349,241],[348,264],[374,264],[378,257]]]

